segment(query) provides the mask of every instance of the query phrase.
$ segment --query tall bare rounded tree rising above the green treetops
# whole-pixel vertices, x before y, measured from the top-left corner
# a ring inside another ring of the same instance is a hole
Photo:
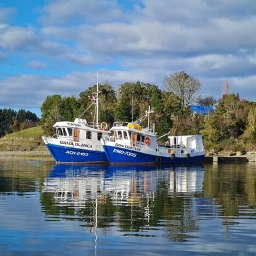
[[[196,102],[200,97],[200,81],[189,76],[186,72],[176,72],[164,79],[164,86],[169,92],[173,92],[180,97],[184,108],[189,104]]]

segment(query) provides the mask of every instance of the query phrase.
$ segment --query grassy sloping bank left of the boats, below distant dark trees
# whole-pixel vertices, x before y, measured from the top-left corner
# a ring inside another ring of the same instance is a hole
[[[47,154],[42,135],[42,127],[32,127],[19,132],[13,132],[0,139],[0,151],[7,152],[40,152]]]

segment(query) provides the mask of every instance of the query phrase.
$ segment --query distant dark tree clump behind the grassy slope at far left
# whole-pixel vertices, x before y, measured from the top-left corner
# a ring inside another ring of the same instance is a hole
[[[35,127],[40,119],[31,111],[19,109],[0,109],[0,138],[6,134]]]

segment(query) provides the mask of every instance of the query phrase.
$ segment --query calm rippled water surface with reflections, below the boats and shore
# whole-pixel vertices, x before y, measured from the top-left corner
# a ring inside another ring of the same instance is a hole
[[[256,255],[256,164],[0,157],[0,255]]]

